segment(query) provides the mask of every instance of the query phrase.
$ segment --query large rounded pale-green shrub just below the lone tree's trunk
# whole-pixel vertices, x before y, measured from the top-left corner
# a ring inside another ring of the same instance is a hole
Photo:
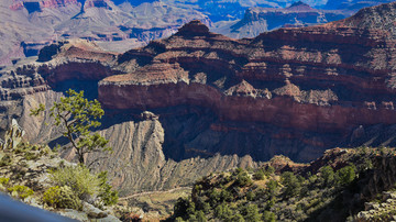
[[[79,199],[86,199],[100,191],[100,179],[82,165],[51,171],[50,179],[59,187],[70,187]]]

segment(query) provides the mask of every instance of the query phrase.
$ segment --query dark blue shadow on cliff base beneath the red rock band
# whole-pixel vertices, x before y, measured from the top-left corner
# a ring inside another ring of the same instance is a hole
[[[319,134],[282,129],[265,123],[219,120],[210,109],[179,106],[151,110],[160,116],[165,132],[162,145],[166,159],[180,162],[217,154],[250,155],[253,160],[268,160],[285,155],[296,162],[310,162],[337,146],[340,134]],[[144,121],[140,110],[106,110],[100,129],[128,121]]]

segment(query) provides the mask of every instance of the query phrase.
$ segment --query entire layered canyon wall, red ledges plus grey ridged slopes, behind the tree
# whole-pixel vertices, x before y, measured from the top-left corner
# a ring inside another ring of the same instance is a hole
[[[41,62],[2,70],[1,124],[19,118],[32,141],[62,143],[48,116],[29,110],[85,89],[107,109],[100,132],[114,147],[98,167],[125,195],[276,154],[308,162],[334,146],[395,145],[395,9],[243,40],[193,21],[123,54],[47,46]]]

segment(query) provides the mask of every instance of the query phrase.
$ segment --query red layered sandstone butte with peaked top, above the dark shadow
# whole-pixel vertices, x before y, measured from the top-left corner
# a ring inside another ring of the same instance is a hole
[[[312,132],[395,124],[395,10],[382,4],[242,40],[191,21],[169,38],[119,55],[125,74],[102,79],[99,100],[112,109],[200,106],[221,120]]]

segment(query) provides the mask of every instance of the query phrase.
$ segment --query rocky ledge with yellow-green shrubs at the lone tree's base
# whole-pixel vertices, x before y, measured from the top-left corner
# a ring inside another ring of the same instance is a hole
[[[11,135],[8,137],[11,145],[0,151],[0,171],[4,175],[0,177],[0,191],[50,210],[82,211],[82,202],[90,202],[94,207],[103,209],[105,206],[118,202],[118,192],[109,185],[107,173],[92,174],[82,164],[75,165],[55,158],[56,153],[47,145],[22,142],[21,137],[18,137],[23,135],[20,132],[22,130],[18,129],[20,131],[15,135],[12,133],[14,130],[15,124],[7,134]],[[50,181],[43,180],[46,176]],[[99,214],[101,218],[107,217],[105,212]]]

